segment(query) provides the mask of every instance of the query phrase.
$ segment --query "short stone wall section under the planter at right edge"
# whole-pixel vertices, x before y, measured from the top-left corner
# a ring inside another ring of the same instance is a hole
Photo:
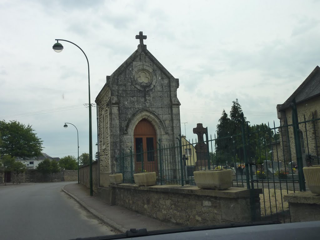
[[[320,195],[307,192],[296,192],[284,195],[284,201],[289,203],[292,222],[307,222],[320,220]]]

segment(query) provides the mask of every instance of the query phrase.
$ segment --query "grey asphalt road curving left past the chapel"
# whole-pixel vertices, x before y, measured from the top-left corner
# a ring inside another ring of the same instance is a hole
[[[61,191],[66,184],[0,187],[0,239],[63,240],[115,234]]]

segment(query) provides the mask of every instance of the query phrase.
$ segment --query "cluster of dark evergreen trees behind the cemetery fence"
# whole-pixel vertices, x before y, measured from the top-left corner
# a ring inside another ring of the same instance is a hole
[[[250,126],[238,100],[232,103],[230,117],[223,110],[217,125],[215,152],[217,164],[225,164],[230,160],[231,163],[244,163],[244,149],[247,159],[251,162],[262,164],[264,160],[271,160],[272,155],[268,144],[275,139],[279,140],[279,134],[267,124]],[[243,135],[245,145],[243,145]]]

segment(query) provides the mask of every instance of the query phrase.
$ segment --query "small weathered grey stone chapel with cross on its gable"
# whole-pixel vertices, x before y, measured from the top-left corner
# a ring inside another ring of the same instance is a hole
[[[136,151],[138,144],[143,151],[156,149],[159,139],[163,144],[174,144],[181,133],[179,79],[147,50],[143,42],[147,36],[139,32],[136,39],[140,40],[137,50],[107,76],[95,100],[101,187],[108,187],[115,156],[121,151],[130,147]]]

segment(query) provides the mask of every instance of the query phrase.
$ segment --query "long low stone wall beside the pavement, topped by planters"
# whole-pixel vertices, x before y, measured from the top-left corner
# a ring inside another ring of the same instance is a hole
[[[138,187],[135,184],[112,184],[110,188],[110,204],[161,221],[186,226],[252,221],[250,190],[246,188],[216,191],[195,186]],[[261,192],[262,189],[253,190],[256,220],[261,219]]]

